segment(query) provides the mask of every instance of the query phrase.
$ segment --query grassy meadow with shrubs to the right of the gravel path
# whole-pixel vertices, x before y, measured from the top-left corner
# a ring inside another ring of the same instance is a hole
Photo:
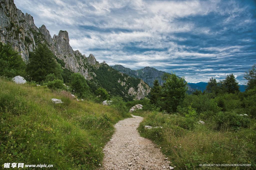
[[[251,164],[236,169],[256,167],[256,124],[251,119],[248,128],[214,130],[214,122],[205,125],[185,117],[158,112],[135,112],[143,116],[138,130],[141,136],[153,140],[168,156],[171,166],[178,169],[234,169],[234,167],[200,167],[199,164]],[[144,126],[163,128],[144,129]]]

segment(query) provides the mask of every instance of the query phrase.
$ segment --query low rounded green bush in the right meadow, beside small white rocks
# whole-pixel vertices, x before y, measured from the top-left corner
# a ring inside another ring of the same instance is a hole
[[[247,128],[250,123],[248,117],[237,115],[235,112],[218,112],[214,116],[214,121],[218,130],[228,128],[237,130],[239,127]]]

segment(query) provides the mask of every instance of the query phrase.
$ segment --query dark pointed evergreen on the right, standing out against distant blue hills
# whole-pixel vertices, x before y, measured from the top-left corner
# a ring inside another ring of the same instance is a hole
[[[238,82],[233,74],[227,75],[223,83],[228,93],[239,92]]]

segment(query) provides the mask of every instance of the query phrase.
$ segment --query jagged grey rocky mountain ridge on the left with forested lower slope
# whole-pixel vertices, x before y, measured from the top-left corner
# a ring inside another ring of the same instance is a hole
[[[0,2],[0,41],[10,43],[23,60],[28,61],[29,52],[38,44],[45,43],[64,71],[67,69],[83,75],[92,90],[103,87],[111,95],[120,95],[125,100],[143,99],[150,92],[150,87],[143,80],[120,73],[105,62],[99,63],[92,54],[86,57],[78,50],[73,51],[67,31],[60,30],[51,38],[46,26],[37,28],[33,17],[17,9],[13,0]]]

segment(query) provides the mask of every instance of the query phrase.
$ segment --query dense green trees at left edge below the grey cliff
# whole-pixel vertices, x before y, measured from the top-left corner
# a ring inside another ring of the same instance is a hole
[[[0,42],[0,75],[7,77],[24,76],[26,64],[10,44]]]

